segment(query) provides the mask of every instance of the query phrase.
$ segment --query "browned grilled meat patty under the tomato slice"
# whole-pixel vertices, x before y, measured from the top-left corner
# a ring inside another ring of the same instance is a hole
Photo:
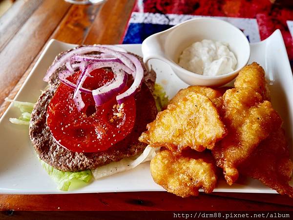
[[[66,51],[69,52],[69,51]],[[57,56],[56,60],[64,53]],[[134,54],[133,54],[134,55]],[[142,58],[136,56],[141,62]],[[56,61],[55,60],[55,61]],[[142,66],[144,67],[143,63]],[[157,114],[155,101],[151,91],[154,89],[156,74],[147,72],[144,67],[144,82],[140,91],[135,94],[136,120],[132,132],[124,140],[119,141],[105,151],[94,153],[72,152],[54,140],[47,124],[46,113],[50,100],[60,84],[59,68],[49,80],[49,88],[40,96],[34,106],[29,126],[29,136],[41,160],[62,171],[82,171],[95,169],[112,161],[134,156],[145,149],[146,144],[138,141],[139,136],[146,130],[146,124],[153,121]],[[131,83],[131,81],[129,81]]]

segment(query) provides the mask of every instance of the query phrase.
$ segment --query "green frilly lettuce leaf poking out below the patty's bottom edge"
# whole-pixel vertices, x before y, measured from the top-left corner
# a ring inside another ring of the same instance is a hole
[[[55,169],[42,160],[41,163],[42,167],[45,169],[51,179],[57,183],[57,189],[62,191],[81,188],[92,179],[92,173],[90,170],[80,172],[63,172]]]

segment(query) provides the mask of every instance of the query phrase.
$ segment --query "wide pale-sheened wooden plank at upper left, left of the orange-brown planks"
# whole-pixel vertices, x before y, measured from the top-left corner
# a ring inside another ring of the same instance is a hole
[[[69,7],[65,1],[44,0],[0,52],[0,103],[21,79]]]

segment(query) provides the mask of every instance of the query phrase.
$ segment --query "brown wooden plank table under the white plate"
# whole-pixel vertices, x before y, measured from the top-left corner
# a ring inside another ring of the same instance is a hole
[[[0,17],[0,116],[54,38],[76,44],[120,43],[135,0],[71,5],[18,0]],[[277,194],[212,193],[182,199],[167,192],[0,195],[0,210],[293,210]]]

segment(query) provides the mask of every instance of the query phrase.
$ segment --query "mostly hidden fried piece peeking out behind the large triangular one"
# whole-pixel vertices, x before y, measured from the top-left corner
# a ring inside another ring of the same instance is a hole
[[[179,92],[169,101],[169,104],[176,103],[183,97],[190,93],[197,93],[208,97],[211,102],[217,107],[221,108],[223,104],[222,96],[224,93],[216,89],[212,89],[206,86],[191,85],[188,88],[180,89]]]

